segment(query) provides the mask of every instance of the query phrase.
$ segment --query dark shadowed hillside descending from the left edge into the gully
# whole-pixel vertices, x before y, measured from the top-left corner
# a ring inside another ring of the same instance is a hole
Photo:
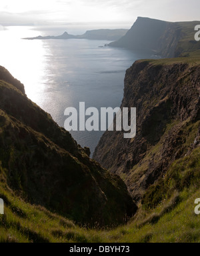
[[[123,181],[89,159],[88,149],[29,100],[3,67],[0,79],[1,183],[77,223],[113,225],[131,217],[137,207]]]

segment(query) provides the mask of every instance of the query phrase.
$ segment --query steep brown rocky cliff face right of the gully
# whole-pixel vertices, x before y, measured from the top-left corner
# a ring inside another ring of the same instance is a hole
[[[137,135],[106,131],[94,159],[120,175],[140,202],[171,164],[199,147],[200,65],[136,61],[125,75],[122,107],[137,107]]]

